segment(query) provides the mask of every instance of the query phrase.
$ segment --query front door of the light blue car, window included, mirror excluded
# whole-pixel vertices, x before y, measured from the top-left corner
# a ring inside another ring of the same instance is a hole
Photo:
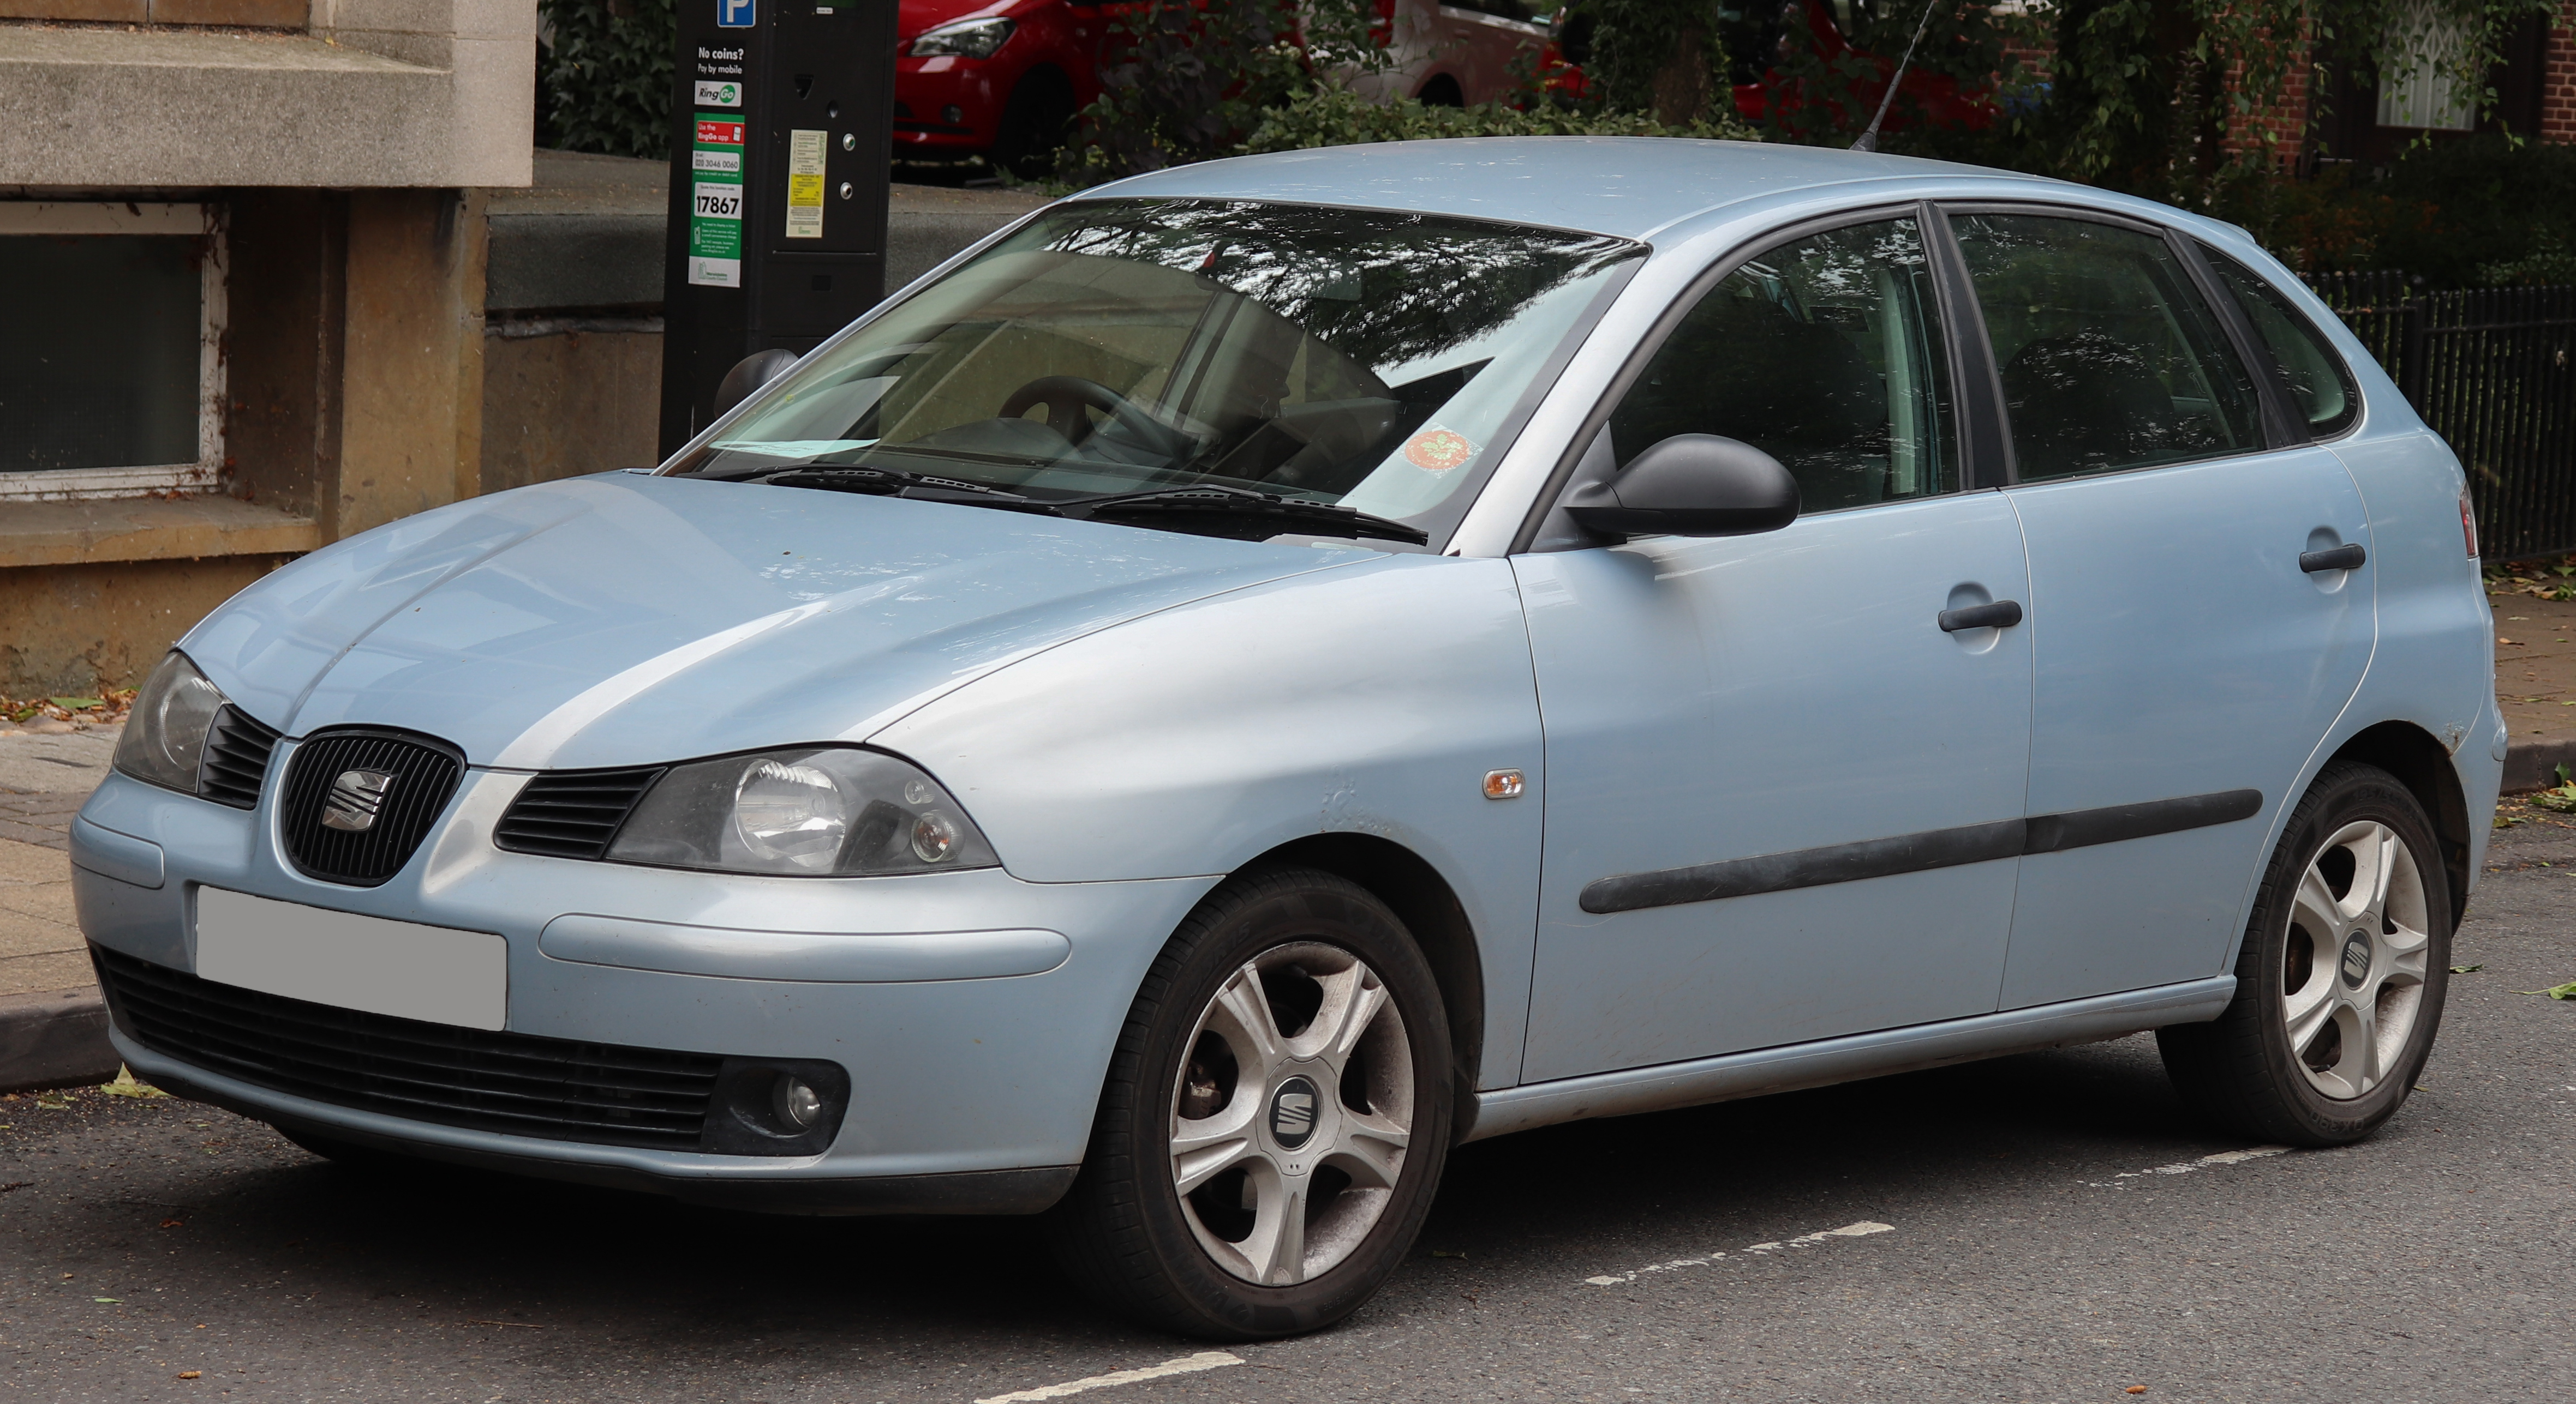
[[[1512,562],[1548,737],[1528,1082],[1978,1015],[2004,969],[2030,647],[1940,616],[2027,580],[2004,495],[1960,492],[1919,224],[1718,281],[1595,459],[1674,433],[1770,451],[1803,513]]]

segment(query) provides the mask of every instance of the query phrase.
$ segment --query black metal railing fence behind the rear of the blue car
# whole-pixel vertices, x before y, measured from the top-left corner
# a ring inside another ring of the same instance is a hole
[[[2576,286],[2424,291],[2396,270],[2308,286],[2468,466],[2486,559],[2576,551]]]

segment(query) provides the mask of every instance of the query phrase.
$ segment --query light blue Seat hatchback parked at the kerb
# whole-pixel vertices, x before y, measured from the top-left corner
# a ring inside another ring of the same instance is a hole
[[[80,920],[142,1077],[325,1157],[1043,1211],[1108,1304],[1285,1334],[1530,1126],[2156,1030],[2244,1134],[2370,1134],[2501,773],[2476,554],[2223,224],[1757,144],[1229,160],[654,471],[245,590]]]

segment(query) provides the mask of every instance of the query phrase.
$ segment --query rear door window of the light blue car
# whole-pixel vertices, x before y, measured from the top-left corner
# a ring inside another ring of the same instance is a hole
[[[1953,219],[2022,482],[2264,446],[2254,381],[2154,234],[2027,214]]]

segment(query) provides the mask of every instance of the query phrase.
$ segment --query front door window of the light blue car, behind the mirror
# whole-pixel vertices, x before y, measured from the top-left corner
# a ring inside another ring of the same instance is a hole
[[[1620,466],[1677,433],[1762,448],[1808,513],[1958,487],[1950,358],[1914,219],[1780,245],[1682,317],[1610,415]]]

